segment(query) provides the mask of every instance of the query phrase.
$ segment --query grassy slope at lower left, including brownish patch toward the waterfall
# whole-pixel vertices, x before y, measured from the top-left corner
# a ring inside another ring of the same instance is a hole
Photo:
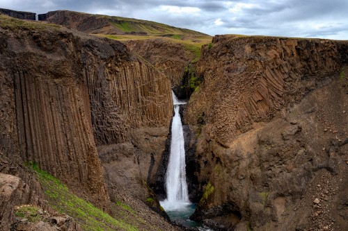
[[[139,216],[139,212],[120,201],[111,206],[111,213],[116,216],[110,216],[73,194],[60,180],[42,171],[37,164],[31,162],[27,166],[35,171],[49,205],[57,212],[71,216],[83,230],[161,230],[147,223]]]

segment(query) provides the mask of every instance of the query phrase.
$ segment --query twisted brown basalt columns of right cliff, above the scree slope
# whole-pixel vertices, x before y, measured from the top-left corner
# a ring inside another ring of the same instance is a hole
[[[339,70],[338,42],[216,36],[198,63],[204,84],[190,99],[187,121],[197,123],[204,114],[214,139],[228,146],[253,123],[279,117]]]

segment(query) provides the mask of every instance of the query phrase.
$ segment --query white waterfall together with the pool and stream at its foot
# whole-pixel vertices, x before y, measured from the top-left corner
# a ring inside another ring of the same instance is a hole
[[[189,200],[189,190],[186,181],[186,164],[184,148],[184,132],[182,130],[182,121],[180,118],[180,102],[173,95],[174,117],[171,127],[171,152],[166,171],[166,200],[159,203],[164,208],[171,221],[184,225],[186,227],[196,228],[197,230],[209,230],[200,223],[192,221],[189,216],[196,209],[196,204]]]

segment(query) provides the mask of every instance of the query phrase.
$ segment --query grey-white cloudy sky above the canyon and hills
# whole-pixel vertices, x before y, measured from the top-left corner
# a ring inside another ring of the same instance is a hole
[[[0,0],[0,8],[74,10],[146,19],[209,35],[348,40],[347,0]]]

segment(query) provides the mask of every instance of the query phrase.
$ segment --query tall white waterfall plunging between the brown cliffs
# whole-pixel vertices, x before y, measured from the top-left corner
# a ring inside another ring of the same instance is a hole
[[[184,103],[177,99],[174,92],[172,94],[175,114],[171,128],[171,153],[166,172],[167,198],[161,201],[161,205],[166,211],[180,209],[191,204],[186,182],[184,132],[179,112],[180,104]]]

